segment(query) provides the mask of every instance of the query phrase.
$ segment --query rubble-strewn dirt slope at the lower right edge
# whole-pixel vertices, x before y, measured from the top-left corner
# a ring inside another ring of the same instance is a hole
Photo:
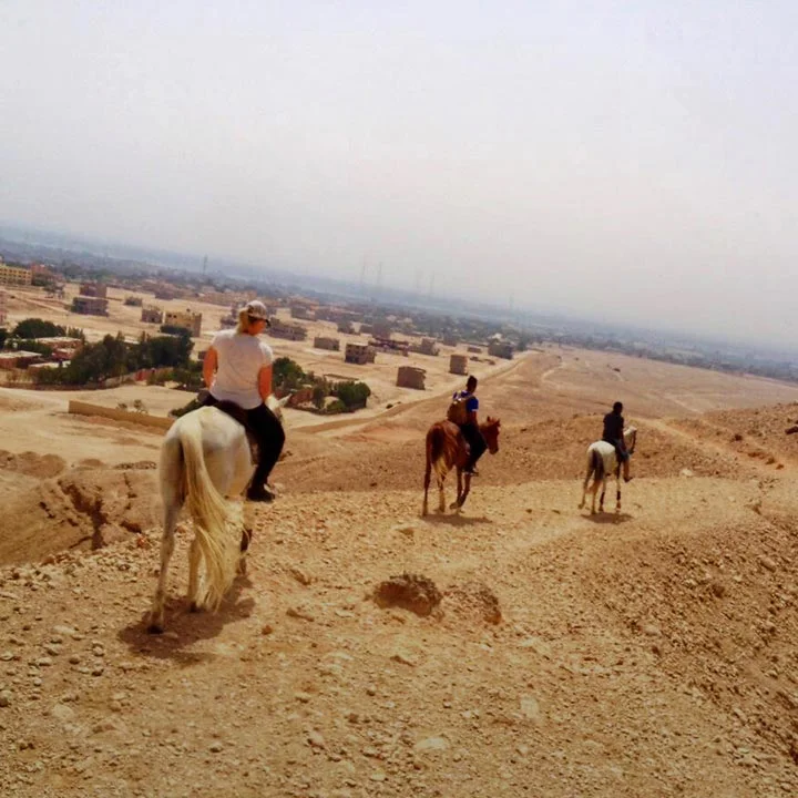
[[[585,590],[672,676],[796,759],[798,523],[758,516],[612,546]]]

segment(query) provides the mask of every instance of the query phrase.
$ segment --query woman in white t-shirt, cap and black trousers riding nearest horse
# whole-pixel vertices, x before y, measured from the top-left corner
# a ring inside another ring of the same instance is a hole
[[[272,347],[258,338],[269,325],[266,306],[253,300],[238,311],[235,330],[214,336],[203,361],[203,379],[209,389],[206,405],[231,401],[246,411],[247,423],[258,439],[259,461],[247,499],[272,501],[265,483],[285,443],[283,424],[265,401],[272,393]]]

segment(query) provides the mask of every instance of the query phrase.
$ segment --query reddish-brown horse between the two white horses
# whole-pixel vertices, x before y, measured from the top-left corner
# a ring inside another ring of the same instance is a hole
[[[484,436],[488,443],[488,451],[495,454],[499,451],[499,428],[501,421],[490,416],[488,421],[480,424],[480,432]],[[424,470],[424,503],[421,514],[429,512],[427,495],[429,493],[430,474],[432,469],[438,480],[438,492],[440,495],[440,512],[446,511],[446,502],[443,501],[443,480],[452,468],[457,468],[458,472],[458,498],[452,502],[450,510],[460,510],[468,499],[471,491],[471,474],[466,474],[466,484],[463,487],[463,468],[468,462],[469,450],[463,433],[460,428],[451,421],[436,421],[427,432],[427,468]]]

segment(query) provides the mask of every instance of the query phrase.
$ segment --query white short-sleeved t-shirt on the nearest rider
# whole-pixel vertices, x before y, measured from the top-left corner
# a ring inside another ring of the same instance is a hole
[[[211,346],[218,355],[211,395],[219,401],[234,401],[245,410],[262,405],[258,374],[264,366],[274,362],[272,347],[257,336],[233,329],[217,332]]]

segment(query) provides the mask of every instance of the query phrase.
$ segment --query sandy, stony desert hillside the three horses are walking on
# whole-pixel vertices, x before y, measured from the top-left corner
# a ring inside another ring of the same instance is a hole
[[[247,577],[188,614],[185,528],[160,637],[157,436],[9,393],[0,418],[69,442],[0,453],[10,795],[798,789],[797,389],[536,354],[481,388],[501,450],[459,516],[419,518],[441,398],[295,430]],[[637,479],[591,518],[584,449],[615,398]],[[401,574],[432,613],[377,591]]]

